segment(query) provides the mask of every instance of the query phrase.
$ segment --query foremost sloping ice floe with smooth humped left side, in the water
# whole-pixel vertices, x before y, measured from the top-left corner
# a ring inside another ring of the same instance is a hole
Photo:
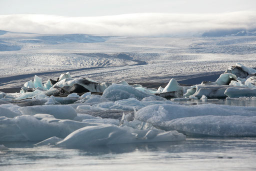
[[[89,146],[119,143],[176,141],[184,139],[185,136],[176,131],[165,132],[157,129],[137,130],[127,126],[119,127],[111,124],[102,124],[80,128],[58,142],[57,146],[86,148]]]

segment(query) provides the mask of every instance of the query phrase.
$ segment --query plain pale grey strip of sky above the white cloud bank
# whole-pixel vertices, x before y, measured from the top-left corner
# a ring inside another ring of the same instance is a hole
[[[256,10],[256,0],[0,0],[0,14],[102,16],[124,13],[219,13]]]

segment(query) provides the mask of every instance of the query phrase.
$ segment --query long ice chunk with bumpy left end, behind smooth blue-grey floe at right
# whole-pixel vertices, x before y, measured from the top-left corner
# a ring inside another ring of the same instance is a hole
[[[151,123],[164,130],[172,129],[168,124],[172,119],[202,115],[256,116],[256,107],[229,106],[210,103],[200,105],[155,104],[143,107],[134,113],[135,119]]]

